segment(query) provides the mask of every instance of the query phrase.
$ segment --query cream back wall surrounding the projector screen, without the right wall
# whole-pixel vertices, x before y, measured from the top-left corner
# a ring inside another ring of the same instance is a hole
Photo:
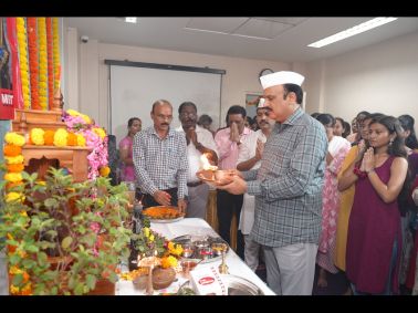
[[[262,69],[270,67],[274,71],[289,71],[297,67],[299,71],[304,70],[304,64],[300,63],[249,60],[220,55],[107,44],[101,43],[94,39],[90,39],[87,43],[80,43],[79,40],[76,43],[73,42],[72,44],[80,45],[81,74],[79,109],[84,114],[92,116],[98,125],[105,128],[108,128],[109,98],[108,65],[104,64],[104,60],[106,59],[197,67],[208,66],[211,69],[226,70],[227,74],[222,76],[222,108],[220,117],[222,126],[224,115],[231,105],[239,104],[245,106],[247,93],[262,93],[259,81],[259,73]],[[67,79],[67,81],[71,80]],[[148,118],[150,107],[151,103],[149,103],[149,111],[145,112],[144,115],[139,115],[138,117]],[[203,113],[205,112],[199,112],[199,114]],[[177,118],[177,113],[175,113],[175,116]],[[216,127],[218,127],[218,121],[213,121],[213,124]]]

